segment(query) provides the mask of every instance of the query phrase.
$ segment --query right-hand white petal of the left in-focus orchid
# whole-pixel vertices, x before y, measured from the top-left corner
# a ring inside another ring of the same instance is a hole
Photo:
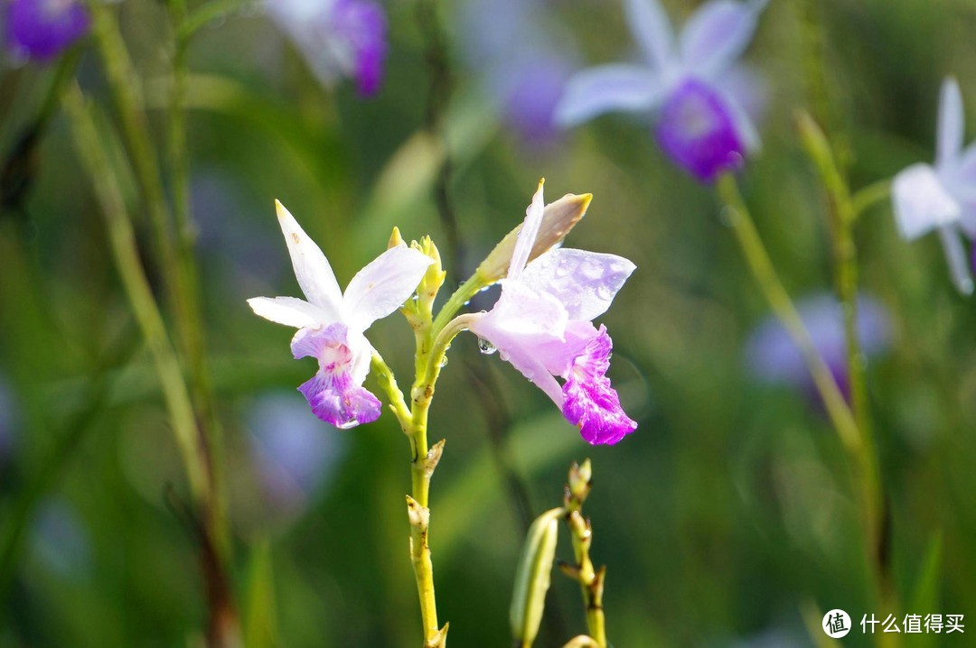
[[[423,252],[400,245],[356,273],[343,297],[343,320],[349,330],[362,332],[402,306],[431,263]]]

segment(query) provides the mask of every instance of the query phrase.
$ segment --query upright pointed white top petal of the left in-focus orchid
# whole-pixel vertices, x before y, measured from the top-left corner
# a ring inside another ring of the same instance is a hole
[[[329,321],[340,319],[340,306],[343,293],[336,282],[332,266],[322,250],[315,245],[305,230],[298,224],[291,212],[278,201],[274,202],[278,212],[278,224],[285,235],[288,253],[292,257],[295,278],[308,301],[322,309]]]

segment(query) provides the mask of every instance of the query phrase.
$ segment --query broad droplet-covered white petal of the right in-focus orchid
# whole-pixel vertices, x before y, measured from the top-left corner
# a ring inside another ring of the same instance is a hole
[[[606,312],[634,268],[616,254],[552,249],[526,266],[519,282],[558,299],[570,320],[590,322]]]

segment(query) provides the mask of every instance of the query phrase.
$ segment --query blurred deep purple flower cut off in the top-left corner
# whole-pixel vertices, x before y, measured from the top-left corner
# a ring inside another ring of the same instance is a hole
[[[88,32],[88,12],[77,0],[10,0],[7,47],[37,61],[57,57]]]

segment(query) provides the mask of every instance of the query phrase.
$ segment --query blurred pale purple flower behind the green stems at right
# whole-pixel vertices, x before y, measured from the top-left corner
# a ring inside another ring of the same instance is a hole
[[[890,316],[880,302],[858,297],[858,342],[866,358],[886,350],[891,341]],[[796,310],[810,333],[813,346],[834,374],[841,392],[847,395],[847,340],[843,310],[834,294],[824,292],[796,301]],[[752,374],[768,383],[786,384],[813,393],[813,379],[803,355],[783,324],[773,316],[752,331],[746,345]]]

